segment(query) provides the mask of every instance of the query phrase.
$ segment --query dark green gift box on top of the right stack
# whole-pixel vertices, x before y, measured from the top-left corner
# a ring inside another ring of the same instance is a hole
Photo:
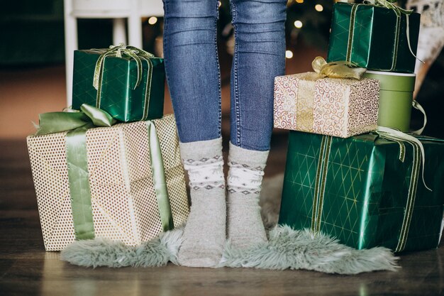
[[[394,9],[336,3],[327,61],[346,60],[368,70],[413,73],[416,59],[411,51],[416,54],[418,47],[419,18],[419,13],[406,16],[399,12],[397,16]]]

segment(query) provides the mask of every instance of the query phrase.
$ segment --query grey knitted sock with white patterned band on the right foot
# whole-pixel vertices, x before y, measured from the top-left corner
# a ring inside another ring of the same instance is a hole
[[[247,150],[230,143],[228,156],[228,239],[248,248],[267,241],[259,197],[268,151]]]

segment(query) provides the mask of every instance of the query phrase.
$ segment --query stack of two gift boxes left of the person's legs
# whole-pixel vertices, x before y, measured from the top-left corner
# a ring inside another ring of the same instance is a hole
[[[104,237],[136,246],[186,221],[163,59],[125,45],[74,53],[72,109],[40,114],[28,151],[47,251]]]

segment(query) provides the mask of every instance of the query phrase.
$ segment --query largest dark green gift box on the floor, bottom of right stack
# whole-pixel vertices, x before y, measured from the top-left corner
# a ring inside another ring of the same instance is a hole
[[[335,138],[290,131],[279,224],[330,234],[358,249],[436,248],[444,211],[444,141],[418,139],[425,170],[420,149],[414,157],[410,143],[377,133]]]

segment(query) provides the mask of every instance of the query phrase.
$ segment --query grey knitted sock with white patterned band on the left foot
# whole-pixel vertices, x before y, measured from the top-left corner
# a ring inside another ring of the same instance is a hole
[[[222,138],[180,143],[192,199],[180,265],[212,267],[219,263],[226,241],[226,197]]]

